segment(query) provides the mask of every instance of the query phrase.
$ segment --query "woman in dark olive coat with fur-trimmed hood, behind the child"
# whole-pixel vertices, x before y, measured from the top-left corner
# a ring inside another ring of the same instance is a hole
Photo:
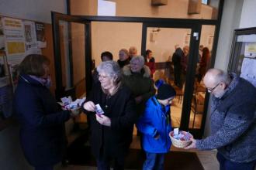
[[[133,93],[138,116],[144,113],[146,101],[155,93],[154,82],[150,79],[150,69],[144,63],[144,56],[133,56],[130,64],[123,67],[123,83]]]

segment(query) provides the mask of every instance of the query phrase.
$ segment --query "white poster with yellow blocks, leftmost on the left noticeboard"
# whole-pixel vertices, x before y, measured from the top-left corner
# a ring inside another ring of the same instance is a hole
[[[5,52],[11,66],[19,65],[25,57],[24,26],[21,19],[2,18]]]

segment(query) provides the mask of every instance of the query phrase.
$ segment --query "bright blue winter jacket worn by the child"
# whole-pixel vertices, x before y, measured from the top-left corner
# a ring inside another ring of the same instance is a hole
[[[137,128],[143,134],[142,146],[150,153],[166,153],[170,150],[171,131],[170,105],[162,107],[156,97],[147,100],[144,114],[137,121]],[[160,138],[154,137],[159,134]]]

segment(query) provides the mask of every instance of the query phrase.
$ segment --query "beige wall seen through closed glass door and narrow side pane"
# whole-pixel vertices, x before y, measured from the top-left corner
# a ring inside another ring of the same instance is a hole
[[[165,62],[175,52],[175,45],[178,44],[181,48],[189,46],[191,29],[168,29],[159,28],[159,32],[154,32],[158,28],[147,29],[147,47],[153,51],[153,56],[156,62]],[[200,45],[208,47],[209,50],[213,47],[213,37],[215,26],[202,26]],[[154,34],[154,39],[150,38]],[[150,41],[154,40],[154,41]]]

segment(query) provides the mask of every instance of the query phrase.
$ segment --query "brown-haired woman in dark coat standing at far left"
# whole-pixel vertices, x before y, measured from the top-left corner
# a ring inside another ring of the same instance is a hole
[[[20,142],[26,160],[36,170],[52,170],[64,156],[64,122],[71,111],[61,110],[50,93],[50,60],[31,54],[19,65],[14,111],[21,124]]]

